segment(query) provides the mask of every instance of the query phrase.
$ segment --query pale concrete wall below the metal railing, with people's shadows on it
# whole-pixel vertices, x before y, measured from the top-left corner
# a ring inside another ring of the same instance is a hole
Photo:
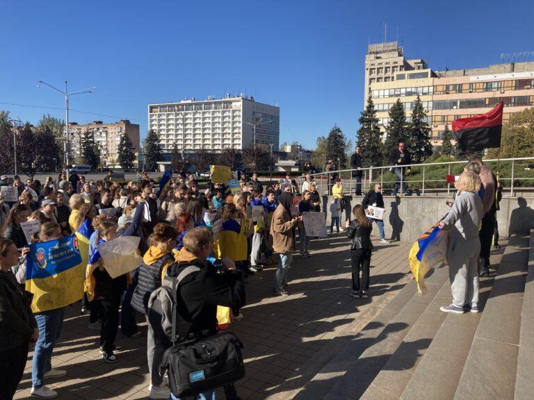
[[[351,206],[362,203],[363,197],[355,196]],[[414,242],[421,233],[442,219],[450,209],[445,197],[392,197],[385,196],[384,216],[387,239]],[[453,198],[451,197],[452,201]],[[323,197],[323,210],[327,210],[326,222],[330,226],[330,197]],[[534,197],[505,197],[497,211],[499,235],[508,237],[512,233],[528,234],[534,228]],[[344,220],[345,214],[342,219]],[[341,222],[344,224],[344,221]],[[330,232],[330,231],[329,231]],[[373,235],[378,236],[378,228],[373,224]]]

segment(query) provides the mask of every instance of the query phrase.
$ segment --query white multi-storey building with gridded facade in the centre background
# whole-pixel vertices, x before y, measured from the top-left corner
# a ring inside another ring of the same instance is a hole
[[[256,135],[254,138],[254,128]],[[222,151],[249,144],[278,149],[280,108],[258,103],[253,97],[182,100],[149,104],[148,128],[157,133],[163,151],[173,149]]]

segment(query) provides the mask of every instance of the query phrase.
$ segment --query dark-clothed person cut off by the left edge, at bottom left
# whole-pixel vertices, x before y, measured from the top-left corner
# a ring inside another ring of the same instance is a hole
[[[24,253],[28,249],[24,249]],[[31,293],[20,288],[10,272],[20,253],[9,239],[0,238],[0,397],[13,399],[24,374],[29,345],[39,338],[31,312]]]

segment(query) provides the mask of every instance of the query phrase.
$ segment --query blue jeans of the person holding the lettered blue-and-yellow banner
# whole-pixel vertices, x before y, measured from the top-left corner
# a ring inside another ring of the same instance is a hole
[[[63,326],[63,308],[35,314],[39,329],[39,339],[35,343],[31,366],[31,385],[35,388],[44,385],[44,373],[52,369],[52,351]]]

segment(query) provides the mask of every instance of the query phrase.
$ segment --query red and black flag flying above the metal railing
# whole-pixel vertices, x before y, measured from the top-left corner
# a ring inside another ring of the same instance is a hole
[[[503,102],[485,114],[453,121],[453,131],[463,151],[483,151],[501,147],[503,128]]]

